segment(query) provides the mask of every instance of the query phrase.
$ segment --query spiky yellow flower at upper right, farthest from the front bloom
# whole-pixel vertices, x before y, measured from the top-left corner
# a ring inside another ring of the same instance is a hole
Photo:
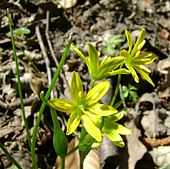
[[[135,82],[139,82],[138,74],[140,74],[144,80],[154,86],[152,79],[149,77],[150,70],[145,65],[151,64],[156,57],[152,53],[141,51],[145,44],[144,32],[144,29],[140,31],[135,44],[133,44],[131,33],[125,31],[129,49],[128,51],[122,50],[118,57],[122,57],[122,63],[125,64],[126,68],[132,74]]]

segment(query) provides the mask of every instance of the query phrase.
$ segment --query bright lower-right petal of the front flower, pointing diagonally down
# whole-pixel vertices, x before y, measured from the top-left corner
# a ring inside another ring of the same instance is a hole
[[[87,115],[82,116],[83,126],[86,131],[98,142],[101,142],[101,131],[95,126],[95,124],[89,119]]]

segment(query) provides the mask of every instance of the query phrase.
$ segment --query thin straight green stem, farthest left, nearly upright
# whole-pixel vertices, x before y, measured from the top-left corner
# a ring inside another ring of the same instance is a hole
[[[20,81],[20,72],[19,72],[19,61],[18,57],[16,54],[16,45],[15,45],[15,39],[14,39],[14,34],[13,34],[13,22],[12,22],[12,17],[11,14],[8,11],[8,20],[9,20],[9,29],[11,33],[11,42],[12,42],[12,50],[13,50],[13,57],[15,59],[15,65],[16,65],[16,78],[17,78],[17,87],[18,87],[18,92],[19,92],[19,97],[21,101],[21,111],[22,111],[22,118],[24,120],[25,124],[25,129],[27,133],[27,140],[28,140],[28,146],[29,148],[31,147],[31,136],[29,132],[29,127],[28,127],[28,121],[25,115],[25,109],[24,109],[24,102],[23,102],[23,96],[22,96],[22,86],[21,86],[21,81]]]

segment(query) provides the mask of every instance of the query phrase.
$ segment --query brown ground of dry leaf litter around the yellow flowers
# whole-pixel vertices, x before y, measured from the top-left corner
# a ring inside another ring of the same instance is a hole
[[[128,80],[122,78],[121,84],[126,86],[126,90],[131,90],[131,86],[135,87],[132,89],[132,96],[125,99],[124,105],[128,115],[123,123],[131,128],[132,135],[125,138],[126,147],[122,149],[105,140],[98,155],[103,169],[170,168],[170,1],[67,2],[74,4],[71,8],[66,8],[67,4],[61,8],[57,0],[0,2],[0,143],[5,145],[24,169],[31,168],[20,99],[16,89],[16,70],[9,36],[7,8],[13,15],[15,28],[30,30],[29,34],[16,37],[22,92],[30,129],[39,110],[40,92],[48,88],[50,75],[46,67],[50,70],[55,69],[64,45],[70,38],[84,51],[86,43],[91,42],[102,54],[116,55],[118,49],[127,47],[125,30],[135,35],[143,27],[146,30],[144,50],[158,57],[150,65],[155,87],[144,81],[136,84],[131,77],[128,77]],[[115,45],[112,40],[116,35],[119,35],[122,41]],[[109,48],[106,48],[108,46]],[[44,59],[46,57],[49,60],[48,65]],[[80,72],[84,86],[88,85],[87,68],[71,53],[64,66],[64,73],[56,84],[57,91],[60,90],[63,95],[67,95],[65,79],[69,79],[73,70]],[[112,81],[116,84],[116,78]],[[42,169],[53,168],[56,161],[50,125],[51,118],[45,113],[37,142],[39,165]],[[14,166],[0,150],[1,168],[12,169]]]

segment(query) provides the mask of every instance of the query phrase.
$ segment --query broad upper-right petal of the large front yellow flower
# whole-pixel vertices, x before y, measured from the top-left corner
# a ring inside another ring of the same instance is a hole
[[[103,81],[95,85],[86,96],[88,105],[93,105],[98,102],[108,91],[110,87],[109,81]]]

